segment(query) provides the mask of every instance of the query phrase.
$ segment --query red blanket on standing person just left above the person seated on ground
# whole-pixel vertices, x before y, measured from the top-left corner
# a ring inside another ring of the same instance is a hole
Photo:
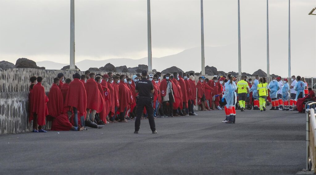
[[[61,90],[59,89],[58,85],[53,84],[51,89],[48,93],[47,108],[48,108],[48,115],[56,118],[63,112],[64,108],[64,98]]]

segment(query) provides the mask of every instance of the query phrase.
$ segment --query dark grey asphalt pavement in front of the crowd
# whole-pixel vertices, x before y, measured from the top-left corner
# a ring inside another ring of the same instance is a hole
[[[223,111],[89,131],[0,136],[1,174],[295,174],[305,167],[305,114]]]

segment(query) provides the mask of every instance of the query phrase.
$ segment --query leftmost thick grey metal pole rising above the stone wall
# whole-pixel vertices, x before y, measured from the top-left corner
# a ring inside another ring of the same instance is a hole
[[[75,69],[75,0],[70,0],[70,67]]]

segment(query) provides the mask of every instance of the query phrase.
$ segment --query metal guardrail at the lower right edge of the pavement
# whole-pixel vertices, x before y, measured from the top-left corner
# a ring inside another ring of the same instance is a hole
[[[309,108],[316,102],[309,103],[306,113],[306,171],[316,173],[316,116],[315,109]]]

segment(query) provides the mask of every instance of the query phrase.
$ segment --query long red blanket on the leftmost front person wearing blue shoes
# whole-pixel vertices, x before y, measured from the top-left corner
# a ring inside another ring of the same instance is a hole
[[[31,99],[32,113],[37,114],[37,123],[38,125],[43,126],[46,123],[46,115],[48,115],[48,97],[46,96],[45,89],[40,82],[33,86]]]

